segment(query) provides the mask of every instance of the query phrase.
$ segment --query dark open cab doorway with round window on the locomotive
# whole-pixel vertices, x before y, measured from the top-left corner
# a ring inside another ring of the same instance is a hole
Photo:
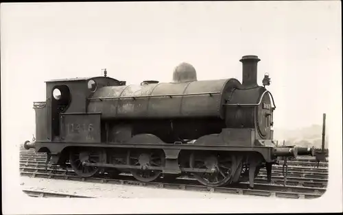
[[[55,86],[51,99],[51,140],[60,137],[60,114],[65,112],[71,102],[71,93],[66,85]]]

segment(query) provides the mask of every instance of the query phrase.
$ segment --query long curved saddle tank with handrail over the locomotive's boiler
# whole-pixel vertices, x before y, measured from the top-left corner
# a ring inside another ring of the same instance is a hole
[[[236,79],[107,86],[88,99],[88,113],[102,118],[222,117],[223,94]]]

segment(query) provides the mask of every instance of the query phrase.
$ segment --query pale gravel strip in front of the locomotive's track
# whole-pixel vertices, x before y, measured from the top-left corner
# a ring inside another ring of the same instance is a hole
[[[64,181],[60,179],[41,179],[21,177],[21,188],[45,192],[60,192],[99,198],[257,198],[239,194],[172,190],[166,188],[147,188],[117,184],[95,184],[84,181]]]

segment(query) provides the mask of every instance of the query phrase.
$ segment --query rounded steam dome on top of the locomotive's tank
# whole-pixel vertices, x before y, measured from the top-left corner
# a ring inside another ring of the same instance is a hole
[[[180,83],[180,82],[187,82],[187,81],[196,81],[196,69],[188,63],[181,63],[174,69],[173,73],[173,81]]]

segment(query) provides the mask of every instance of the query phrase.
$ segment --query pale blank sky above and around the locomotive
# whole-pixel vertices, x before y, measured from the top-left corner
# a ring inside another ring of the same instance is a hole
[[[272,79],[275,129],[307,127],[329,117],[341,47],[340,1],[5,3],[1,113],[15,118],[2,118],[27,140],[49,79],[106,68],[128,84],[171,81],[188,62],[198,80],[241,81],[239,60],[258,55],[259,84],[264,73]]]

